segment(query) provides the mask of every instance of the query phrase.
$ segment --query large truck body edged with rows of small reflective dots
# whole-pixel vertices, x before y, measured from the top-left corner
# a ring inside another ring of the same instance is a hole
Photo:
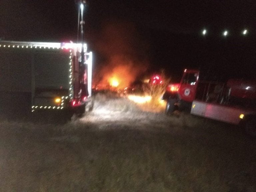
[[[86,58],[81,64],[81,47],[75,43],[1,41],[1,112],[11,108],[26,111],[29,106],[31,112],[83,113],[91,96],[92,53],[84,46]]]

